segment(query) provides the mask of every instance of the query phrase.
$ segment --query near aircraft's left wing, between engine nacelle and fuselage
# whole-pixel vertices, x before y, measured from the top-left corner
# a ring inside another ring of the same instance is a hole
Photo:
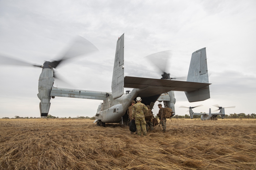
[[[102,91],[89,91],[89,90],[77,90],[77,89],[67,89],[67,88],[51,88],[51,96],[58,97],[72,97],[72,98],[82,98],[82,99],[95,99],[95,100],[106,100],[109,93]]]

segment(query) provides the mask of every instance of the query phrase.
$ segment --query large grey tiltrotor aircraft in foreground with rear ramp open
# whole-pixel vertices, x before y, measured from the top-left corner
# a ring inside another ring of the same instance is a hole
[[[156,101],[163,101],[164,107],[168,106],[174,112],[176,102],[174,91],[185,91],[189,102],[203,101],[210,98],[206,48],[199,49],[192,54],[187,81],[171,80],[170,74],[166,72],[163,72],[162,79],[124,76],[124,34],[118,38],[116,45],[111,84],[112,93],[54,87],[54,77],[56,78],[54,68],[61,61],[97,50],[93,44],[80,37],[62,59],[52,62],[46,61],[42,66],[28,64],[42,68],[38,82],[39,93],[37,94],[40,99],[39,110],[41,116],[48,115],[51,98],[95,99],[103,100],[95,115],[97,125],[104,126],[105,123],[120,123],[122,125],[127,123],[127,109],[136,97],[141,97],[142,103],[145,105],[151,104],[151,108]],[[24,65],[27,65],[27,63]],[[133,89],[124,93],[124,88]]]

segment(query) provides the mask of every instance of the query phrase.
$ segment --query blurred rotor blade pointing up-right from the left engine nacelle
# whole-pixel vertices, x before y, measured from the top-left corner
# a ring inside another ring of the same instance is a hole
[[[56,68],[58,64],[63,60],[77,57],[80,55],[90,54],[96,51],[99,51],[99,49],[95,45],[78,35],[70,45],[69,49],[65,53],[63,53],[61,59],[52,61],[51,66],[53,68]]]

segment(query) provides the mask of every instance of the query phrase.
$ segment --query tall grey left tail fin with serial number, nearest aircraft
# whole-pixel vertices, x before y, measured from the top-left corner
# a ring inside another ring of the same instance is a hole
[[[113,99],[124,94],[124,34],[118,38],[116,43],[111,89]]]

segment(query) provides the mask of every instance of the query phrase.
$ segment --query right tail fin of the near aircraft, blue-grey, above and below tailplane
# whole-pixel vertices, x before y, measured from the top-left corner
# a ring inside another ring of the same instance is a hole
[[[209,83],[206,48],[192,53],[187,82]],[[210,98],[210,89],[209,86],[206,86],[191,92],[185,91],[185,94],[189,102],[203,101]]]

